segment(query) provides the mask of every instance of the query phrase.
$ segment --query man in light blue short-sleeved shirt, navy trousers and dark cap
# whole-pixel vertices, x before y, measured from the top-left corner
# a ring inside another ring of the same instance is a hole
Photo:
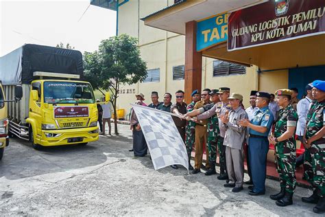
[[[269,151],[267,135],[271,130],[274,117],[269,111],[269,93],[256,93],[256,106],[258,110],[253,119],[241,119],[239,125],[250,128],[248,155],[250,156],[250,169],[252,170],[253,187],[248,194],[252,196],[265,194],[266,159]]]

